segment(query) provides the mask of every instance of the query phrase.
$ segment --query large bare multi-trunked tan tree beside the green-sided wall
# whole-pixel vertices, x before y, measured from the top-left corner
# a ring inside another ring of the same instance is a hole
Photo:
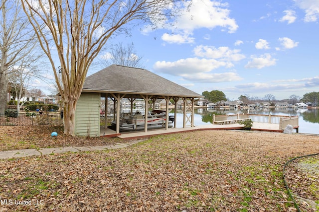
[[[175,11],[178,9],[175,0],[21,2],[39,44],[51,63],[63,99],[64,133],[70,135],[74,135],[76,103],[88,69],[109,38],[116,32],[127,32],[128,23],[136,24],[139,20],[156,27],[165,23],[170,15],[177,14]],[[46,30],[41,28],[42,24]],[[59,58],[58,65],[55,64],[54,53]],[[61,67],[61,73],[56,66]],[[62,84],[58,80],[59,74]]]

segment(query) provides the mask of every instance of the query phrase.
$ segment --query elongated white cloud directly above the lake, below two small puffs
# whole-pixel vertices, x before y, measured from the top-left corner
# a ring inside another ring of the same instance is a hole
[[[239,49],[231,50],[229,47],[219,47],[214,46],[196,46],[194,48],[195,56],[210,58],[210,59],[220,59],[221,61],[240,61],[245,58],[243,54],[239,54]]]

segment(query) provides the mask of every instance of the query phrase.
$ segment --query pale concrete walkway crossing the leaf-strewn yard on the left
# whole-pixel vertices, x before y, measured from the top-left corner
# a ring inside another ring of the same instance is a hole
[[[27,156],[40,156],[45,154],[65,153],[65,152],[80,152],[80,151],[95,151],[106,149],[124,148],[135,143],[145,140],[128,141],[125,143],[115,143],[104,146],[67,146],[67,147],[54,147],[54,148],[39,148],[39,149],[17,149],[0,151],[0,159],[13,158],[13,157],[27,157]]]

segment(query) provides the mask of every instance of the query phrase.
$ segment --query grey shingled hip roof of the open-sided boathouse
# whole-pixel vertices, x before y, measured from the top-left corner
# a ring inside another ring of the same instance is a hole
[[[202,97],[151,71],[119,65],[111,65],[86,77],[82,92]]]

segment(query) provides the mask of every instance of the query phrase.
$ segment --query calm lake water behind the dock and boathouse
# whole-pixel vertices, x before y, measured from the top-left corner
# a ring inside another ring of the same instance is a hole
[[[183,110],[176,111],[176,127],[183,127]],[[285,116],[299,116],[299,133],[319,134],[319,111],[317,109],[301,108],[262,108],[262,109],[210,109],[195,108],[194,125],[211,125],[212,115],[222,114],[271,114]],[[169,110],[169,115],[174,114],[174,109]]]

